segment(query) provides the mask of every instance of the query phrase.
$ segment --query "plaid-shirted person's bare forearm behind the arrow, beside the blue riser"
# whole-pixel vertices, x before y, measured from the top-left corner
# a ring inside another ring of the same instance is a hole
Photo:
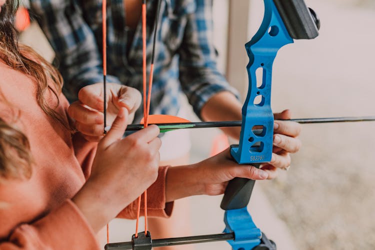
[[[241,103],[228,91],[213,95],[203,105],[200,115],[205,121],[241,120]],[[240,127],[223,127],[221,130],[233,138],[239,138]]]

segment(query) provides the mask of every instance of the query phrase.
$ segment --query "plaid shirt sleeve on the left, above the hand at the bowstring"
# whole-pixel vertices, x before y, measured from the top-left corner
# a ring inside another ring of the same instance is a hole
[[[68,99],[77,99],[81,87],[102,82],[102,57],[77,3],[30,0],[30,8],[56,53],[55,61],[64,79],[64,93]],[[107,81],[120,83],[111,75],[107,75]]]

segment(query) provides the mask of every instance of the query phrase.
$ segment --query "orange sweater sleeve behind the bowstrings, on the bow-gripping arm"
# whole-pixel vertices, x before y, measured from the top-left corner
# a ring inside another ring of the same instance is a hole
[[[160,166],[156,181],[147,188],[147,215],[167,218],[172,213],[173,202],[165,202],[165,176],[168,166]],[[144,216],[144,195],[140,203],[140,216]],[[135,219],[137,199],[126,206],[118,215],[119,218]]]

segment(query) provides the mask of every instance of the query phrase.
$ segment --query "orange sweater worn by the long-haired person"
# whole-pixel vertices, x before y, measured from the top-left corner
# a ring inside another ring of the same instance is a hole
[[[70,198],[90,174],[96,143],[69,131],[47,116],[35,99],[35,84],[0,61],[0,117],[15,124],[28,138],[33,156],[28,180],[0,179],[0,249],[98,249],[96,235]],[[56,100],[50,93],[47,99]],[[58,112],[66,116],[61,95]],[[148,188],[148,214],[168,216],[165,174]],[[142,207],[142,206],[141,206]],[[119,214],[134,218],[136,202]]]

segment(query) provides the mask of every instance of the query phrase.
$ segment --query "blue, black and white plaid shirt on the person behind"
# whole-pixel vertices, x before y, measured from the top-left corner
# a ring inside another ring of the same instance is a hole
[[[56,52],[72,101],[85,85],[102,82],[102,0],[30,0],[31,13]],[[157,0],[147,1],[147,62],[150,63]],[[162,0],[156,35],[150,113],[175,115],[182,91],[200,117],[204,103],[223,90],[235,93],[216,65],[212,0]],[[107,3],[107,82],[142,89],[141,24],[132,40],[123,0]],[[148,65],[149,70],[149,65]],[[149,72],[147,73],[147,75]],[[143,115],[135,114],[135,122]]]

